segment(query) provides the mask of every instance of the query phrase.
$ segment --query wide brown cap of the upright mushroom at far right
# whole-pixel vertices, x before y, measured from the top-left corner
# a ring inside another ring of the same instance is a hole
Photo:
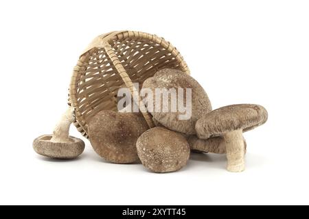
[[[261,105],[228,105],[205,114],[195,128],[198,138],[207,139],[238,129],[249,131],[266,123],[267,118],[267,111]]]

